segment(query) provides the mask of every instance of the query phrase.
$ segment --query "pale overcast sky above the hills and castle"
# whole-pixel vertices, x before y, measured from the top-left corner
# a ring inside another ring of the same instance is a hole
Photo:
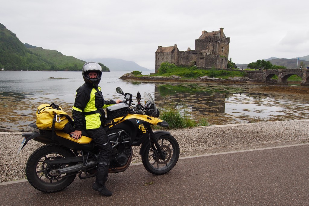
[[[66,56],[155,69],[158,46],[193,50],[203,30],[220,27],[235,63],[307,56],[308,8],[300,0],[0,0],[0,23],[23,43]]]

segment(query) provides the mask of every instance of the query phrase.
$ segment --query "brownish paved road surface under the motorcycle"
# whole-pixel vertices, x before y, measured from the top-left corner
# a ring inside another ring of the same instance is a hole
[[[309,205],[309,144],[180,159],[165,175],[142,165],[109,174],[110,197],[94,178],[46,194],[28,182],[0,186],[0,205]]]

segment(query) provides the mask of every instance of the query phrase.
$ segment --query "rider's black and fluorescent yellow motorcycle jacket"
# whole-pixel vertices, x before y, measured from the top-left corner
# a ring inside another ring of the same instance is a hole
[[[105,120],[103,109],[113,104],[116,104],[114,100],[104,100],[101,87],[83,84],[76,90],[75,103],[72,108],[75,129],[81,131],[99,128]]]

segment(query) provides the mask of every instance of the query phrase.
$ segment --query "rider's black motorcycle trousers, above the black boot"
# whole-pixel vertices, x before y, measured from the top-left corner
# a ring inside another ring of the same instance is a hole
[[[112,158],[112,145],[103,127],[87,129],[87,133],[95,141],[95,144],[100,150],[95,181],[99,184],[104,184],[107,180],[109,163]]]

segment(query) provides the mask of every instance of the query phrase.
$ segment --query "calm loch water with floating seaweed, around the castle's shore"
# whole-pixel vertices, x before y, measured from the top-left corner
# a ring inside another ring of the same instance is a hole
[[[143,98],[143,93],[147,92],[155,97],[160,109],[174,107],[186,110],[191,118],[206,119],[210,124],[309,118],[308,88],[119,79],[128,72],[103,73],[99,86],[104,99],[123,99],[116,93],[117,86],[132,93],[133,97],[139,91]],[[41,103],[56,103],[70,114],[76,89],[83,83],[81,72],[0,71],[0,127],[25,128],[35,121],[35,111]]]

